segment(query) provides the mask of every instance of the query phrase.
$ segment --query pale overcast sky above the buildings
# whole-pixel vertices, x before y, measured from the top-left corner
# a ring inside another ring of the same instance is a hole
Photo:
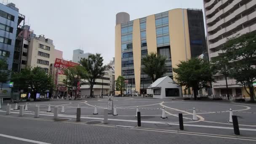
[[[203,0],[0,0],[14,3],[36,35],[53,40],[63,58],[73,50],[101,53],[104,64],[115,57],[115,15],[139,19],[174,8],[203,8]]]

